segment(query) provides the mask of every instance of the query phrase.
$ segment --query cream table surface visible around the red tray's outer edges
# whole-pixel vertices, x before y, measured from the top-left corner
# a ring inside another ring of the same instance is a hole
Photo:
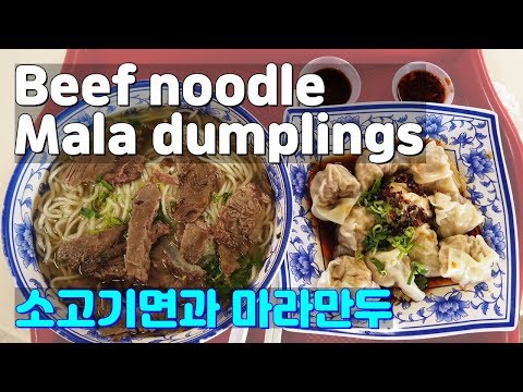
[[[499,96],[523,135],[523,50],[484,50],[485,61]],[[14,68],[20,63],[61,64],[64,49],[0,50],[0,118],[3,119],[4,135],[0,146],[0,199],[14,168]],[[1,240],[0,240],[1,241]],[[522,305],[523,307],[523,305]],[[29,331],[14,328],[14,287],[3,254],[0,255],[0,342],[29,342]],[[520,331],[520,342],[523,332]]]

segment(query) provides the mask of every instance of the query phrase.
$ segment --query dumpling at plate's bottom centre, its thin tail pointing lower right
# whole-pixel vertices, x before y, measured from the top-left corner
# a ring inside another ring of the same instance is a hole
[[[414,280],[409,284],[409,275],[411,274],[411,259],[404,256],[399,259],[400,250],[392,249],[389,252],[376,252],[374,255],[367,253],[365,264],[373,273],[373,281],[384,287],[392,287],[397,285],[401,291],[415,302],[419,302],[425,297],[425,293],[419,290]],[[373,262],[374,260],[374,262]],[[377,261],[376,261],[377,260]],[[382,267],[382,271],[378,271],[376,265]]]

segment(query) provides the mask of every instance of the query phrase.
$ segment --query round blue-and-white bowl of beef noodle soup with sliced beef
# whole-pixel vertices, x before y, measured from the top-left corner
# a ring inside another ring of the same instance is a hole
[[[139,87],[131,94],[135,107],[107,117],[108,124],[133,123],[136,156],[23,158],[7,194],[4,250],[22,292],[38,289],[51,301],[50,319],[66,314],[68,304],[57,297],[60,289],[216,289],[222,307],[218,327],[147,329],[137,311],[134,329],[125,328],[124,316],[110,327],[56,329],[71,341],[205,341],[230,324],[231,292],[267,287],[285,249],[291,191],[283,166],[254,155],[161,157],[150,145],[154,126],[173,111],[202,131],[208,122],[256,120],[216,101],[205,110],[151,109],[143,106],[148,86]],[[61,128],[94,111],[80,103],[57,120]],[[183,301],[178,299],[179,321]],[[92,318],[110,310],[110,302],[97,299]]]

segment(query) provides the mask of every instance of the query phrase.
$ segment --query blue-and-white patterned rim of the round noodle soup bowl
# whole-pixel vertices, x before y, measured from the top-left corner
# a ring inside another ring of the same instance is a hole
[[[82,122],[90,125],[93,114],[96,111],[101,110],[105,114],[118,112],[115,91],[111,93],[110,102],[105,108],[93,108],[81,101],[57,115],[59,137],[64,136],[63,126],[68,123]],[[131,88],[130,106],[148,105],[149,96],[148,82],[138,82]],[[187,107],[184,102],[182,102],[182,106]],[[199,110],[223,122],[242,124],[258,122],[245,109],[241,107],[228,108],[216,100],[212,100],[207,107],[199,108]],[[34,200],[46,191],[46,179],[51,167],[52,162],[49,157],[34,154],[27,154],[16,166],[5,195],[2,215],[2,236],[3,250],[16,285],[26,297],[32,289],[40,290],[42,296],[48,297],[56,307],[56,313],[49,317],[57,320],[65,316],[66,308],[56,298],[54,293],[49,289],[48,282],[39,271],[33,230]],[[255,291],[268,287],[281,266],[290,235],[292,215],[292,193],[285,167],[283,164],[266,163],[266,168],[275,194],[276,230],[265,266],[252,285],[252,289]],[[222,311],[218,317],[218,327],[216,329],[191,329],[163,336],[135,336],[127,338],[124,341],[203,342],[229,327],[231,317],[230,309]],[[73,342],[111,341],[110,338],[101,336],[94,329],[54,328],[54,330],[61,336]]]

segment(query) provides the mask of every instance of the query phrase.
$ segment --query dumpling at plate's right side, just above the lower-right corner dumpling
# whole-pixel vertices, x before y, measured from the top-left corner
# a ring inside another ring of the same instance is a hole
[[[437,192],[428,199],[436,207],[436,223],[442,237],[465,234],[485,221],[482,212],[464,197],[455,197],[454,201],[449,195]]]

